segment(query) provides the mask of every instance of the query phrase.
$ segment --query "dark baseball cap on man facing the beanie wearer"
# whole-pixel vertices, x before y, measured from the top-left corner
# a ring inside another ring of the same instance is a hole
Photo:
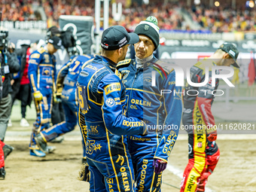
[[[126,44],[139,42],[139,35],[128,33],[123,26],[111,26],[102,33],[102,49],[117,50]]]

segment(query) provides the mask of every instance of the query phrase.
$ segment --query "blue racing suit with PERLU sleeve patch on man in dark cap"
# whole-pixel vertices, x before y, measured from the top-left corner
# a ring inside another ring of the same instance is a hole
[[[78,121],[86,142],[90,191],[135,190],[126,135],[147,133],[142,120],[123,114],[125,87],[115,66],[96,56],[78,77]]]

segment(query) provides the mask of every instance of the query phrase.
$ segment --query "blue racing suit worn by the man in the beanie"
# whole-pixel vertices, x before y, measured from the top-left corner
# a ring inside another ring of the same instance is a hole
[[[175,71],[163,69],[163,62],[155,57],[141,69],[136,68],[136,59],[119,62],[117,69],[126,87],[127,117],[139,117],[148,125],[148,136],[128,139],[136,191],[160,191],[163,172],[154,172],[153,161],[157,158],[167,162],[175,145],[181,123],[181,87],[175,86]],[[155,86],[152,72],[156,72]],[[161,94],[161,90],[168,93]]]

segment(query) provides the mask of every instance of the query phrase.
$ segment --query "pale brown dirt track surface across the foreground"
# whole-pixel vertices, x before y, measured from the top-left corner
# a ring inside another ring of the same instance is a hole
[[[0,191],[89,191],[89,184],[78,181],[81,165],[81,142],[64,140],[53,154],[39,158],[29,155],[29,142],[6,142],[15,150],[5,161],[6,178],[0,181]],[[219,140],[221,158],[209,177],[211,191],[256,191],[256,141]],[[169,164],[183,172],[187,163],[187,141],[178,140]],[[169,170],[163,181],[179,187],[181,178]],[[179,191],[167,184],[163,192]]]

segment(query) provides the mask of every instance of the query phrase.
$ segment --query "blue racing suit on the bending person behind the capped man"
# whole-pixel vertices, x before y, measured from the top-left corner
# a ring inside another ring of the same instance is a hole
[[[75,95],[77,87],[76,83],[78,81],[78,75],[83,67],[87,62],[91,62],[92,60],[93,56],[90,55],[73,56],[69,59],[69,62],[66,62],[66,64],[59,70],[56,78],[56,95],[61,95],[66,121],[42,131],[41,136],[45,142],[50,142],[56,137],[69,133],[75,129],[75,125],[78,122],[78,101]]]

